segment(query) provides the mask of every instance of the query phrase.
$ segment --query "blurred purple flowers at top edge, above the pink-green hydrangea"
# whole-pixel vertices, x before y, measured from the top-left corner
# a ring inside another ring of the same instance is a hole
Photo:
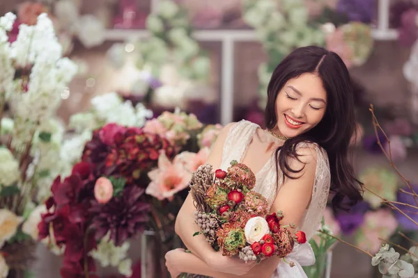
[[[374,17],[376,0],[339,0],[336,10],[353,22],[370,23]]]

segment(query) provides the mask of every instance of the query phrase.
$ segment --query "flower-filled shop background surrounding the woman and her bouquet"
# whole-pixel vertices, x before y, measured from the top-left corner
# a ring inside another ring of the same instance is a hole
[[[0,16],[0,278],[170,277],[192,174],[226,124],[265,127],[274,67],[308,45],[348,67],[366,189],[325,208],[304,272],[418,277],[417,0],[1,0]]]

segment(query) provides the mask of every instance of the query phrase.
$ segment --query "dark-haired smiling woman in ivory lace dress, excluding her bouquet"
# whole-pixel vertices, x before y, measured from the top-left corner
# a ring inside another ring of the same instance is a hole
[[[332,192],[334,210],[362,199],[362,183],[348,161],[355,133],[353,88],[341,58],[320,47],[302,47],[274,70],[265,108],[267,129],[247,121],[228,124],[212,147],[207,163],[226,170],[235,159],[256,173],[256,190],[283,211],[282,224],[297,223],[307,238],[314,235]],[[309,244],[297,245],[288,259],[271,257],[245,263],[212,250],[203,236],[193,237],[195,207],[188,196],[178,213],[176,234],[192,254],[166,254],[173,277],[180,272],[210,277],[306,277],[301,265],[314,263]]]

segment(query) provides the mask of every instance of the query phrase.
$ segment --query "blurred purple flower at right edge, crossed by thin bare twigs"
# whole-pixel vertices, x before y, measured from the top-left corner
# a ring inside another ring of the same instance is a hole
[[[411,192],[409,188],[404,188],[404,189],[405,191],[409,193]],[[412,185],[412,189],[415,191],[415,193],[418,193],[418,185]],[[412,206],[417,206],[414,200],[414,196],[406,194],[406,193],[401,193],[401,191],[398,191],[398,195],[396,199],[398,202],[410,204]],[[417,200],[418,200],[418,197],[417,197]],[[416,209],[410,208],[408,206],[403,206],[401,204],[396,204],[396,206],[398,208],[401,208],[401,211],[406,213],[410,218],[418,222],[418,214],[417,214],[418,211]],[[401,224],[401,226],[403,227],[403,229],[412,230],[412,231],[418,230],[417,225],[414,224],[411,220],[409,220],[405,215],[403,215],[399,211],[395,211],[395,216],[399,224]]]

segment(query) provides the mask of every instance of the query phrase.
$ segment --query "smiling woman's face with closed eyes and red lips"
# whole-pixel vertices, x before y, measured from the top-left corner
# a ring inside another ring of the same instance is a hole
[[[327,92],[322,80],[305,73],[289,79],[276,99],[277,133],[295,137],[313,129],[327,109]]]

